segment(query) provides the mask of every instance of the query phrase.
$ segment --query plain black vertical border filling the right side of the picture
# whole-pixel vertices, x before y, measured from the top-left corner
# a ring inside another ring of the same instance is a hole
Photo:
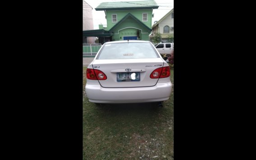
[[[246,29],[236,28],[245,25],[240,9],[223,1],[175,0],[175,160],[241,156],[236,139],[243,136],[235,124],[245,103],[247,60],[240,62],[247,46],[241,36]]]

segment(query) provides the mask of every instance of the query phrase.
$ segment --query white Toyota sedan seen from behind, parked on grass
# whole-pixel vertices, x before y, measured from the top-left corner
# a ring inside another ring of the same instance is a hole
[[[94,103],[144,103],[169,99],[170,68],[149,41],[103,44],[87,67],[86,95]]]

